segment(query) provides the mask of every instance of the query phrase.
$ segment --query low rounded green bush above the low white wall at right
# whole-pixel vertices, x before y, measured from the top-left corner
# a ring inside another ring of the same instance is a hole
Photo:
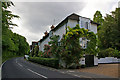
[[[100,51],[98,55],[99,55],[99,58],[120,57],[120,51],[113,49],[113,48],[108,48],[108,49]]]

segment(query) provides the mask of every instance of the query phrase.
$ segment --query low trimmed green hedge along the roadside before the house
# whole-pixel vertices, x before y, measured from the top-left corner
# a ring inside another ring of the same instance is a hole
[[[59,60],[55,58],[29,57],[28,60],[45,66],[59,68]]]

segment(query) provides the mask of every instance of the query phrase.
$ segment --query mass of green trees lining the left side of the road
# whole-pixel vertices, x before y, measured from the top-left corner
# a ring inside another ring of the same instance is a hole
[[[29,45],[26,39],[13,33],[11,29],[13,26],[17,26],[12,22],[13,18],[19,18],[19,16],[12,14],[9,7],[14,6],[11,1],[2,2],[2,59],[8,59],[12,56],[23,55],[27,53]]]

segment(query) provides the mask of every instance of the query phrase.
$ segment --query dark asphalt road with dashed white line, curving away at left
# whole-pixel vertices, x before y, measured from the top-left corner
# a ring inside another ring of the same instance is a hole
[[[6,61],[2,66],[2,79],[5,78],[78,78],[56,70],[28,62],[23,57]]]

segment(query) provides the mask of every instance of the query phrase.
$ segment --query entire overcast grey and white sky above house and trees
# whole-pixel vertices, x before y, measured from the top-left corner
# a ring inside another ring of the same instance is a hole
[[[74,0],[75,1],[75,0]],[[13,32],[26,37],[29,44],[39,41],[44,32],[49,32],[51,25],[57,25],[65,17],[76,13],[83,17],[93,19],[94,13],[99,10],[103,14],[110,13],[118,7],[118,0],[81,0],[77,2],[14,2],[15,7],[10,10],[20,16],[13,22]]]

